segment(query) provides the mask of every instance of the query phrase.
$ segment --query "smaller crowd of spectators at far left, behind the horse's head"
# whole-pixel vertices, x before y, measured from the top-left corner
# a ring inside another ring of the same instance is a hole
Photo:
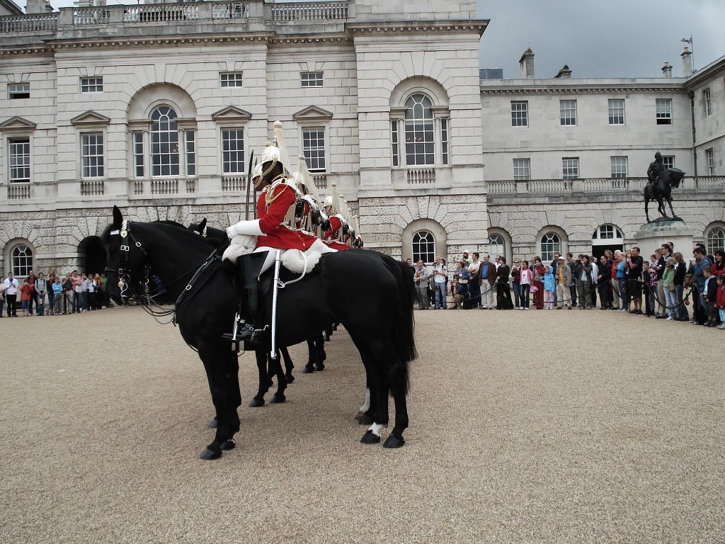
[[[106,275],[79,274],[77,270],[62,276],[51,268],[48,276],[31,270],[27,278],[17,279],[12,272],[0,282],[0,318],[62,316],[107,306]],[[35,313],[33,313],[35,310]]]

